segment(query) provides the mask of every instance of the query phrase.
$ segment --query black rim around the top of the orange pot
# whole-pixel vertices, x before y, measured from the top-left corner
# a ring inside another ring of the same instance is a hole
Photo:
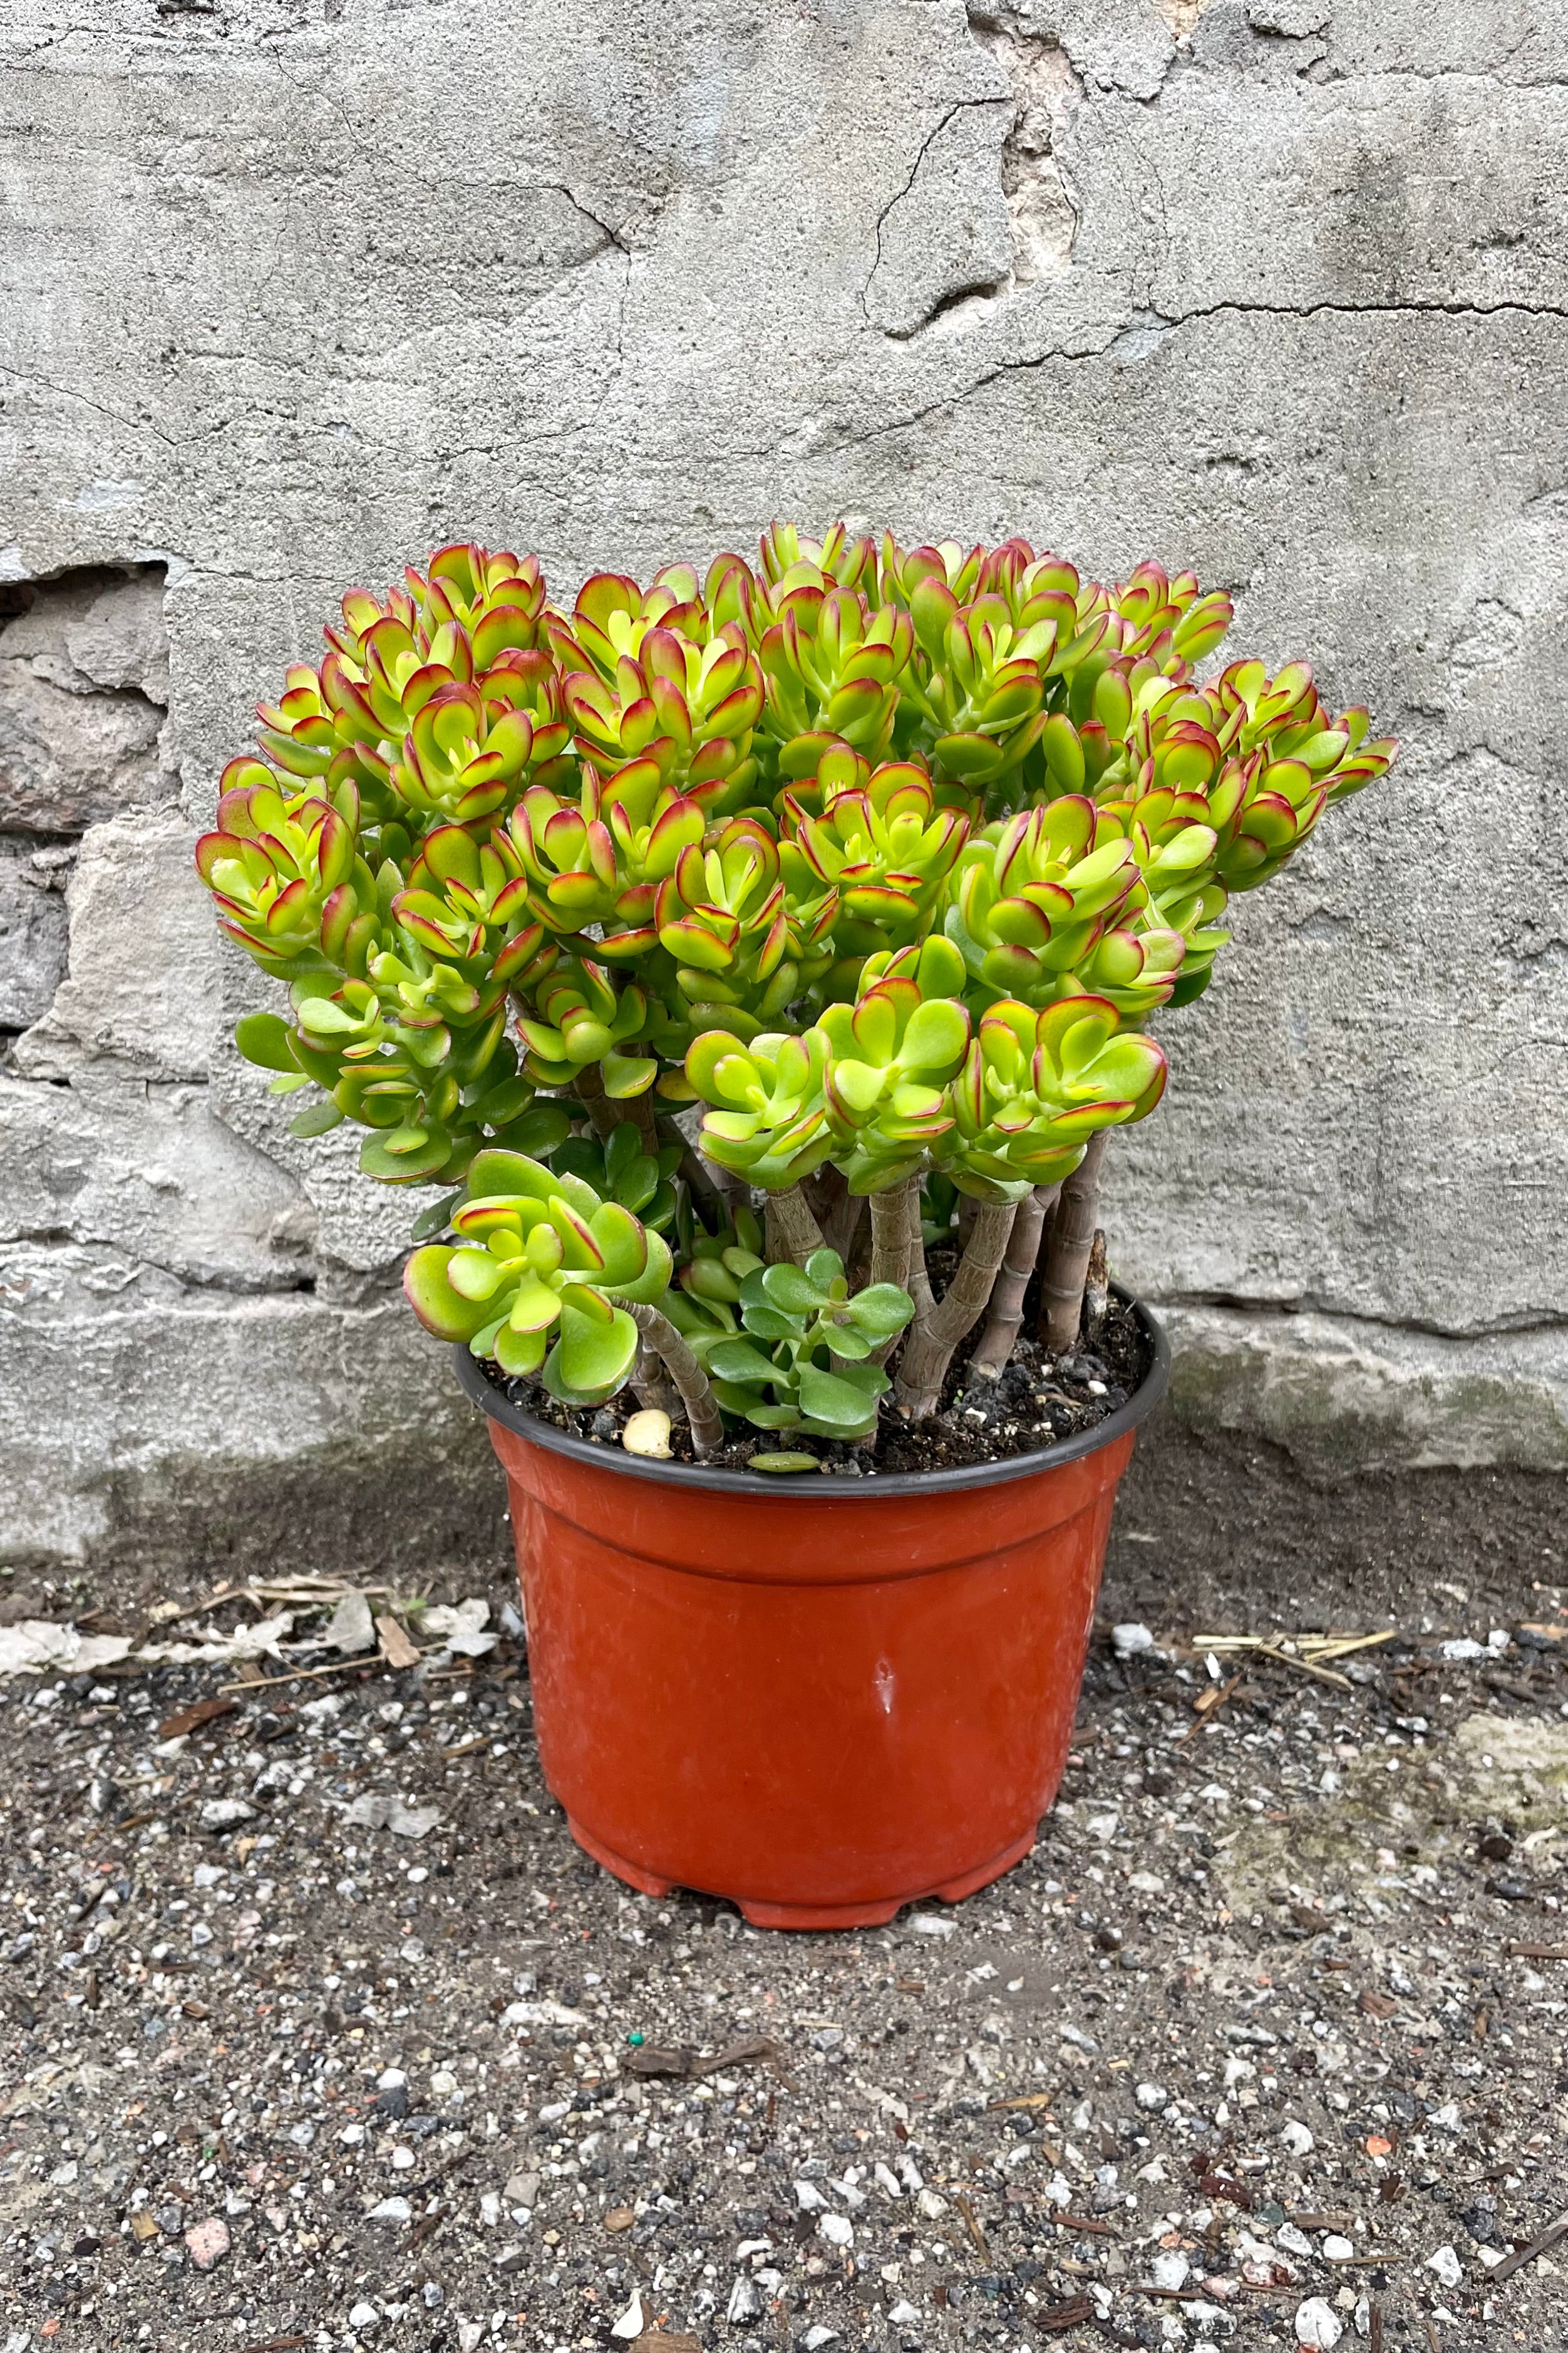
[[[527,1438],[529,1445],[545,1447],[550,1454],[567,1454],[576,1464],[595,1464],[599,1471],[609,1471],[618,1478],[651,1480],[654,1485],[679,1487],[686,1494],[693,1487],[710,1487],[715,1494],[743,1494],[752,1501],[766,1499],[769,1504],[802,1499],[820,1504],[827,1497],[832,1497],[835,1504],[875,1504],[877,1497],[947,1494],[957,1487],[999,1487],[1006,1480],[1032,1478],[1039,1471],[1056,1471],[1060,1464],[1079,1461],[1084,1454],[1098,1454],[1100,1447],[1110,1447],[1117,1438],[1135,1431],[1168,1388],[1171,1341],[1166,1339],[1164,1325],[1143,1304],[1143,1299],[1133,1299],[1133,1294],[1119,1282],[1112,1285],[1112,1289],[1117,1292],[1117,1299],[1126,1299],[1133,1308],[1147,1341],[1154,1348],[1154,1360],[1126,1405],[1119,1405],[1114,1414],[1105,1417],[1105,1421],[1095,1421],[1091,1431],[1077,1431],[1072,1438],[1058,1438],[1053,1445],[1039,1447],[1034,1454],[1009,1454],[1004,1461],[994,1464],[961,1464],[957,1471],[893,1471],[879,1478],[832,1478],[827,1489],[818,1487],[806,1473],[799,1478],[769,1478],[762,1471],[715,1471],[708,1464],[656,1461],[646,1454],[625,1454],[621,1447],[595,1447],[585,1438],[557,1431],[552,1421],[536,1421],[534,1414],[524,1414],[522,1407],[510,1402],[510,1398],[503,1398],[463,1341],[454,1346],[451,1355],[461,1388],[489,1414],[491,1421],[515,1431],[517,1438]]]

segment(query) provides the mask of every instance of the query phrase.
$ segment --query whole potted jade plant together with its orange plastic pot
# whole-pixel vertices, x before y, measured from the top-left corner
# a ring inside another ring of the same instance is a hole
[[[237,1047],[428,1195],[543,1767],[635,1887],[886,1920],[1056,1795],[1166,1379],[1100,1155],[1229,896],[1394,755],[1229,619],[1023,539],[776,525],[571,607],[451,546],[223,774],[197,868],[287,986]]]

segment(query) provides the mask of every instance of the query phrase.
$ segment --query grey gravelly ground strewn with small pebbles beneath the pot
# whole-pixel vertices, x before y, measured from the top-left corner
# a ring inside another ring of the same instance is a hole
[[[1103,1631],[1037,1852],[842,1937],[583,1859],[510,1640],[0,1685],[0,2344],[1568,2346],[1568,1640],[1472,1633]]]

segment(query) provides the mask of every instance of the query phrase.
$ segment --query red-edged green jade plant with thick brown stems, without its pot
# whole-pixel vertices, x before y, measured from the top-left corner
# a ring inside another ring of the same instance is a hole
[[[223,774],[197,868],[289,995],[237,1047],[294,1134],[435,1188],[409,1299],[501,1372],[675,1384],[698,1454],[926,1417],[983,1315],[1006,1365],[1041,1247],[1074,1341],[1154,1031],[1394,758],[1305,664],[1215,668],[1229,619],[1023,539],[773,525],[569,609],[442,548],[343,598]]]

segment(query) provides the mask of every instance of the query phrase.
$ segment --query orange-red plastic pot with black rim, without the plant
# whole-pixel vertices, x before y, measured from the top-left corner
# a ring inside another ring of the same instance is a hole
[[[1034,1845],[1117,1480],[1168,1346],[1095,1431],[912,1478],[658,1464],[534,1421],[456,1351],[505,1468],[534,1725],[571,1835],[644,1894],[865,1927]]]

